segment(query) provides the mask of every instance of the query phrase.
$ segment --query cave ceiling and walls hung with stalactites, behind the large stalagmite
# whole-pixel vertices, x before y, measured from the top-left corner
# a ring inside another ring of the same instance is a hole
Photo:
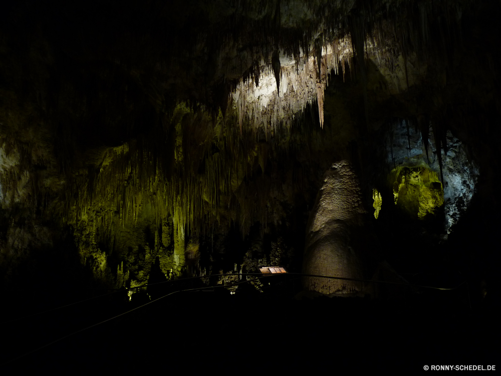
[[[323,174],[340,160],[366,209],[382,198],[372,223],[442,216],[437,247],[475,192],[499,205],[498,2],[3,7],[5,283],[65,252],[117,288],[300,271]]]

